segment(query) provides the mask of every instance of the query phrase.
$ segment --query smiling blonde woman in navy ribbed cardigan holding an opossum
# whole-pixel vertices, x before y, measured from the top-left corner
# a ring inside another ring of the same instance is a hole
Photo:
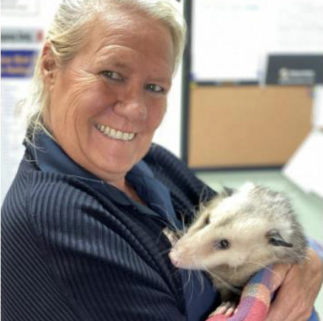
[[[184,35],[166,1],[66,0],[58,9],[3,205],[3,320],[202,320],[214,310],[209,280],[183,286],[162,234],[180,227],[180,214],[190,220],[205,186],[151,147]],[[290,320],[306,319],[319,285],[303,283],[317,283],[319,268],[312,254],[295,281],[288,275],[299,267],[288,272],[287,307],[308,298]],[[284,297],[275,321],[288,320]]]

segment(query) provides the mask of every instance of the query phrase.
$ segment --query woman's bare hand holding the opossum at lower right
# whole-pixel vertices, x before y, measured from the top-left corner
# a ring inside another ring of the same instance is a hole
[[[266,321],[307,321],[322,284],[322,262],[308,249],[304,264],[274,266],[274,287],[280,288]]]

